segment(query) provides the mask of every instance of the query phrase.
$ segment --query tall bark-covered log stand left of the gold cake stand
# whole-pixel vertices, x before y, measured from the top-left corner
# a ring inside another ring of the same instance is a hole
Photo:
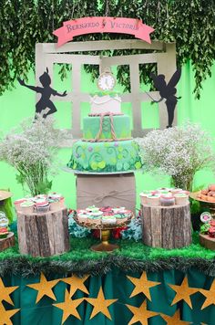
[[[21,254],[50,257],[67,252],[69,246],[67,209],[24,215],[17,213]]]

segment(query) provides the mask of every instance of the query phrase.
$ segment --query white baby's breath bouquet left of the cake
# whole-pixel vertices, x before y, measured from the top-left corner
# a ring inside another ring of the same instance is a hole
[[[26,184],[31,195],[46,194],[52,186],[48,176],[56,174],[56,154],[66,137],[65,131],[54,128],[52,117],[37,115],[1,140],[0,160],[15,168],[18,183]]]

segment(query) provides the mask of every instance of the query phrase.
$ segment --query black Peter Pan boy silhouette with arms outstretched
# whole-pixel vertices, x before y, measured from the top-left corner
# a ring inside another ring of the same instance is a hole
[[[46,108],[50,109],[47,111],[46,114],[43,115],[43,117],[46,119],[47,115],[50,115],[50,114],[53,114],[56,112],[56,106],[50,100],[51,95],[64,97],[64,96],[67,96],[67,91],[63,92],[63,94],[60,94],[55,89],[52,89],[50,87],[51,78],[48,74],[47,68],[46,68],[46,72],[44,72],[43,75],[41,75],[39,77],[39,81],[41,82],[43,87],[35,87],[35,86],[26,85],[24,79],[18,78],[18,82],[20,83],[21,86],[25,86],[28,89],[34,90],[38,93],[41,93],[41,98],[36,103],[36,114],[41,113],[42,110],[45,110]]]

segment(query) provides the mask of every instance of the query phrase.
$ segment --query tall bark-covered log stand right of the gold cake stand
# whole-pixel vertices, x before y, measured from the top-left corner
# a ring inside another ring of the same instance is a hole
[[[191,244],[189,204],[141,205],[143,243],[152,247],[179,248]]]

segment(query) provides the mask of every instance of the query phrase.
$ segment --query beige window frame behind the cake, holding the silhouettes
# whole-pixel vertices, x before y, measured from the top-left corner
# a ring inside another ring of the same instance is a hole
[[[89,55],[77,55],[74,52],[88,52],[105,49],[148,49],[153,53],[126,55],[115,57],[100,57]],[[157,52],[158,51],[158,52]],[[111,68],[112,66],[128,65],[130,71],[130,93],[122,94],[122,102],[130,102],[133,115],[133,137],[140,137],[150,129],[142,129],[141,126],[141,102],[151,101],[146,92],[140,90],[139,65],[155,63],[157,64],[158,74],[164,74],[168,82],[176,70],[176,49],[175,43],[166,44],[163,42],[152,42],[148,44],[141,40],[107,40],[107,41],[88,41],[70,42],[62,47],[56,47],[55,43],[36,44],[36,84],[39,83],[39,76],[48,68],[49,75],[53,79],[53,67],[56,63],[66,63],[72,65],[73,85],[72,92],[66,97],[51,100],[63,100],[73,103],[73,118],[71,121],[71,132],[74,138],[80,138],[80,112],[81,102],[87,102],[89,96],[81,91],[81,66],[84,64],[98,65],[100,70]],[[154,100],[159,100],[159,92],[151,91],[149,95]],[[177,115],[177,114],[176,114]],[[177,116],[174,123],[176,124]],[[164,129],[168,124],[168,114],[165,100],[159,102],[159,128]]]

